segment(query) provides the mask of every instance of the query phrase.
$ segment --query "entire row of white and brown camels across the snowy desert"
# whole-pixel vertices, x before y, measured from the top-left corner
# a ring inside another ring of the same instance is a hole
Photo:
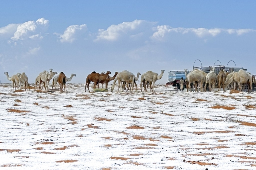
[[[17,85],[20,85],[21,89],[21,83],[23,84],[23,90],[30,90],[30,86],[28,84],[28,76],[23,72],[23,73],[17,73],[12,75],[12,77],[9,77],[8,72],[4,72],[6,74],[6,77],[8,80],[12,81],[12,90]],[[111,92],[113,92],[115,88],[115,83],[118,81],[118,90],[124,91],[124,90],[130,90],[132,91],[134,86],[135,86],[135,91],[137,91],[137,84],[136,81],[139,79],[139,76],[141,75],[141,81],[140,81],[140,89],[142,92],[142,84],[144,87],[144,91],[147,91],[148,84],[150,85],[150,91],[155,91],[155,82],[156,80],[159,80],[162,78],[164,74],[164,70],[161,70],[161,74],[158,75],[155,72],[152,71],[147,71],[146,73],[140,74],[137,73],[137,76],[135,76],[133,73],[124,70],[122,72],[115,72],[115,75],[113,77],[109,76],[111,74],[110,71],[101,72],[101,74],[96,73],[93,71],[91,74],[88,74],[86,77],[86,83],[85,83],[85,90],[86,92],[86,87],[90,92],[89,89],[89,84],[93,82],[93,89],[96,88],[96,86],[105,83],[106,84],[106,89],[108,89],[108,82],[114,80],[112,86],[111,86]],[[186,80],[187,82],[187,92],[188,89],[190,89],[191,92],[191,86],[190,84],[193,82],[194,87],[198,86],[200,87],[201,91],[206,91],[206,85],[209,84],[209,90],[212,91],[212,89],[215,88],[216,83],[219,86],[219,91],[220,88],[222,87],[223,90],[227,88],[230,85],[230,89],[236,89],[236,83],[238,84],[239,90],[242,91],[242,83],[248,83],[248,93],[252,91],[252,76],[250,73],[245,72],[244,70],[239,70],[238,72],[232,72],[228,73],[225,72],[223,69],[220,70],[219,74],[216,75],[214,72],[214,67],[212,67],[211,71],[207,74],[202,70],[194,69],[190,73],[187,74],[187,69],[185,69],[185,75],[186,75]],[[52,72],[52,69],[50,69],[50,72],[44,70],[41,72],[37,77],[36,77],[36,86],[37,83],[39,83],[39,90],[43,90],[43,87],[45,91],[48,91],[48,85],[50,80],[53,78],[52,81],[52,88],[57,86],[57,83],[60,85],[60,91],[63,91],[64,87],[64,92],[67,91],[66,89],[66,82],[71,81],[72,78],[76,76],[76,74],[71,74],[70,78],[68,78],[63,72],[60,72],[59,74],[57,72]],[[43,87],[41,88],[41,83],[43,82]],[[204,87],[203,87],[203,84]],[[125,88],[126,85],[126,88]],[[147,85],[147,87],[146,87]],[[193,89],[194,89],[193,87]],[[197,88],[196,88],[197,91]],[[198,90],[199,91],[199,90]]]

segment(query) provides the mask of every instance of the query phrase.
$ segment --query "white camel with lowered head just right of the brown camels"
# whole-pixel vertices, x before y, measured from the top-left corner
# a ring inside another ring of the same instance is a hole
[[[119,88],[121,86],[121,91],[123,91],[123,88],[122,88],[122,81],[125,81],[126,82],[126,87],[127,89],[129,89],[128,87],[128,84],[129,84],[129,81],[132,82],[131,86],[133,86],[133,83],[134,83],[134,75],[127,71],[127,70],[124,70],[122,72],[119,72],[117,75],[116,75],[116,78],[114,79],[114,82],[113,82],[113,85],[111,87],[111,92],[113,92],[114,88],[115,88],[115,84],[116,84],[116,81],[118,81],[118,90],[117,92],[119,91]],[[130,89],[129,89],[130,90]],[[132,90],[130,90],[132,91]]]

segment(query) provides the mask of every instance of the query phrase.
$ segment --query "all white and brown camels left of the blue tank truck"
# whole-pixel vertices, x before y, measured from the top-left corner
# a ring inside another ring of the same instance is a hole
[[[14,87],[16,90],[16,87],[18,84],[20,85],[20,89],[21,89],[21,83],[23,84],[23,90],[25,90],[25,91],[27,89],[28,89],[28,91],[30,90],[30,86],[28,84],[28,76],[24,72],[14,74],[14,75],[12,75],[12,77],[9,77],[8,72],[4,72],[4,74],[6,74],[6,77],[8,80],[12,81],[12,90],[14,89]],[[124,70],[119,73],[115,72],[115,75],[113,77],[109,76],[109,74],[111,74],[110,71],[107,71],[106,74],[105,74],[105,72],[101,72],[101,74],[99,74],[99,73],[96,73],[95,71],[93,71],[91,74],[89,74],[86,77],[84,92],[86,92],[86,87],[89,90],[90,82],[93,82],[93,89],[96,88],[96,85],[98,85],[98,88],[99,88],[100,84],[102,84],[102,87],[103,87],[104,83],[106,84],[106,89],[108,89],[108,82],[112,81],[112,80],[114,80],[114,83],[111,87],[111,92],[115,88],[116,81],[118,81],[118,91],[119,91],[119,89],[121,91],[124,91],[125,85],[126,85],[127,89],[130,91],[133,90],[134,85],[135,85],[135,89],[137,91],[136,81],[139,79],[139,76],[141,75],[140,73],[137,73],[137,76],[135,76],[131,72]],[[143,73],[141,75],[140,88],[143,83],[144,91],[147,91],[147,88],[145,85],[145,83],[146,83],[147,85],[148,84],[150,85],[150,91],[155,91],[155,82],[156,82],[156,80],[161,79],[163,74],[164,74],[164,70],[161,70],[160,75],[158,75],[157,73],[154,73],[152,71]],[[51,79],[53,79],[52,89],[53,89],[53,87],[55,87],[55,89],[56,89],[57,83],[59,83],[60,91],[63,91],[63,87],[64,87],[64,92],[66,92],[67,91],[66,82],[71,81],[74,76],[76,76],[76,74],[71,74],[70,78],[68,78],[63,72],[60,72],[58,74],[57,72],[53,72],[52,69],[50,69],[50,72],[44,70],[43,72],[39,73],[39,75],[36,77],[35,85],[37,86],[37,83],[38,83],[39,90],[43,90],[43,87],[44,87],[45,91],[48,91],[49,82]],[[43,87],[41,88],[42,82],[43,82]],[[120,86],[121,86],[121,88],[120,88]],[[36,90],[36,88],[35,88],[35,90]],[[89,92],[90,92],[90,90],[89,90]]]

